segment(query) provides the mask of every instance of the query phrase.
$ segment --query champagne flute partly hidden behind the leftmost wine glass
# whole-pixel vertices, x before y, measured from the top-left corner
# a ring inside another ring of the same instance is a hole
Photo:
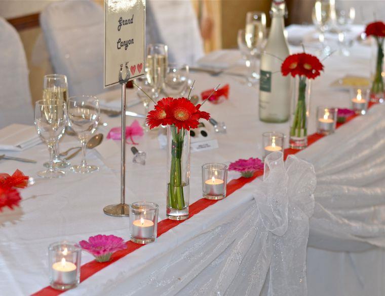
[[[43,83],[43,100],[46,102],[60,101],[67,104],[68,99],[68,83],[67,77],[60,74],[49,74],[44,76]],[[61,134],[60,138],[64,135]],[[70,166],[69,162],[63,161],[59,158],[59,141],[54,147],[54,165],[59,168],[66,168]],[[49,163],[44,163],[45,167],[49,167]]]

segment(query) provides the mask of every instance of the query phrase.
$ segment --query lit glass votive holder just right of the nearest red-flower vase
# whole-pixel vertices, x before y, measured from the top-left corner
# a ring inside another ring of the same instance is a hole
[[[226,197],[226,185],[226,165],[209,163],[202,166],[202,191],[205,199],[224,199]]]

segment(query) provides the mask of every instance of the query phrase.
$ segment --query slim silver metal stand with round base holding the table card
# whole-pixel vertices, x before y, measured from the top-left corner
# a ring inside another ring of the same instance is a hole
[[[129,217],[130,210],[126,204],[126,83],[130,79],[128,62],[125,64],[126,77],[123,79],[123,64],[120,66],[119,83],[122,85],[122,142],[121,142],[121,202],[105,206],[104,214],[111,217]]]

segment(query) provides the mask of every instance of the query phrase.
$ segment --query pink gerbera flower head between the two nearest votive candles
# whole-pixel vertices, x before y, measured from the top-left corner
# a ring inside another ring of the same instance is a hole
[[[83,250],[95,256],[97,262],[106,262],[111,258],[112,253],[127,249],[123,238],[115,235],[98,234],[90,236],[88,241],[79,242]]]

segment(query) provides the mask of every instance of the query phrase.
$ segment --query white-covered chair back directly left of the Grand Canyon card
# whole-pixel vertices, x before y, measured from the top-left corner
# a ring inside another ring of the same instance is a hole
[[[69,95],[103,92],[103,8],[87,0],[54,2],[40,23],[55,73],[67,76]]]

